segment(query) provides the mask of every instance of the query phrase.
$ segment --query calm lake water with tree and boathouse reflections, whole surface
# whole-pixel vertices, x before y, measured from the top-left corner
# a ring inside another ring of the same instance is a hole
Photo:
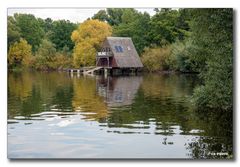
[[[196,75],[8,74],[8,158],[232,158],[232,114],[197,113]]]

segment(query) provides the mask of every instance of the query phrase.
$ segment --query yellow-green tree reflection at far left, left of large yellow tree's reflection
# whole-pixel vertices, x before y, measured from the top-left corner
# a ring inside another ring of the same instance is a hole
[[[72,89],[66,75],[47,72],[22,72],[8,75],[8,118],[16,115],[59,111],[69,106]],[[66,100],[68,99],[69,100]],[[71,104],[71,103],[70,103]]]

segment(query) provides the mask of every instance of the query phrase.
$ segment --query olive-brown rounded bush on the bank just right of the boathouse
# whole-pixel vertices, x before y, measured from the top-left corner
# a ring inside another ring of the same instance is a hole
[[[145,48],[141,57],[144,67],[150,71],[168,70],[168,59],[171,53],[170,47]]]

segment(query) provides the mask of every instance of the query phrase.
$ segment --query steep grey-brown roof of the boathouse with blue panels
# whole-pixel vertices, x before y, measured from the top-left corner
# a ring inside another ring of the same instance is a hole
[[[129,37],[107,37],[118,67],[143,67],[139,55]],[[117,49],[122,48],[122,51]]]

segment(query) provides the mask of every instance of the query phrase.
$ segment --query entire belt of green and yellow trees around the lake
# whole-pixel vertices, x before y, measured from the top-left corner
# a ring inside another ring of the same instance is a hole
[[[51,70],[95,64],[107,36],[131,37],[147,71],[198,72],[201,110],[232,110],[233,10],[99,10],[75,24],[30,14],[8,16],[8,67]]]

